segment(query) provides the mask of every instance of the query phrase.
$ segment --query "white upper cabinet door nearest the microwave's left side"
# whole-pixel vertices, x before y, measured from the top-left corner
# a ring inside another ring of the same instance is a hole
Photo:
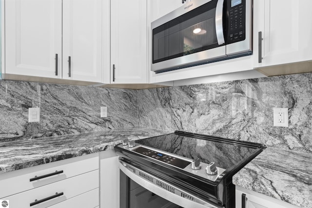
[[[111,83],[147,82],[146,0],[111,0]]]

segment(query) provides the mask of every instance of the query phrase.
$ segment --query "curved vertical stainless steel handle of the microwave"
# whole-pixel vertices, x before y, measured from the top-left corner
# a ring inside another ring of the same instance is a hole
[[[219,45],[225,43],[223,35],[223,2],[224,0],[218,0],[215,8],[215,33]]]

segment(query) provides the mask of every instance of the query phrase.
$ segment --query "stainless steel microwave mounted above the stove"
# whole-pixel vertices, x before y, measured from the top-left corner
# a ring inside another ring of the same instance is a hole
[[[151,23],[156,73],[252,55],[253,0],[190,0]]]

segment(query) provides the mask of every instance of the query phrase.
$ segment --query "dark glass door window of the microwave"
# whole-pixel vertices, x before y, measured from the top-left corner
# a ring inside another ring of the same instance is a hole
[[[212,0],[153,29],[153,63],[218,47],[217,0]]]

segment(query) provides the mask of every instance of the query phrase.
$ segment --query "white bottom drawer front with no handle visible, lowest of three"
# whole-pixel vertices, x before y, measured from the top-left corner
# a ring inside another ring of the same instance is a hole
[[[95,208],[99,205],[98,196],[98,189],[93,189],[49,208]]]

